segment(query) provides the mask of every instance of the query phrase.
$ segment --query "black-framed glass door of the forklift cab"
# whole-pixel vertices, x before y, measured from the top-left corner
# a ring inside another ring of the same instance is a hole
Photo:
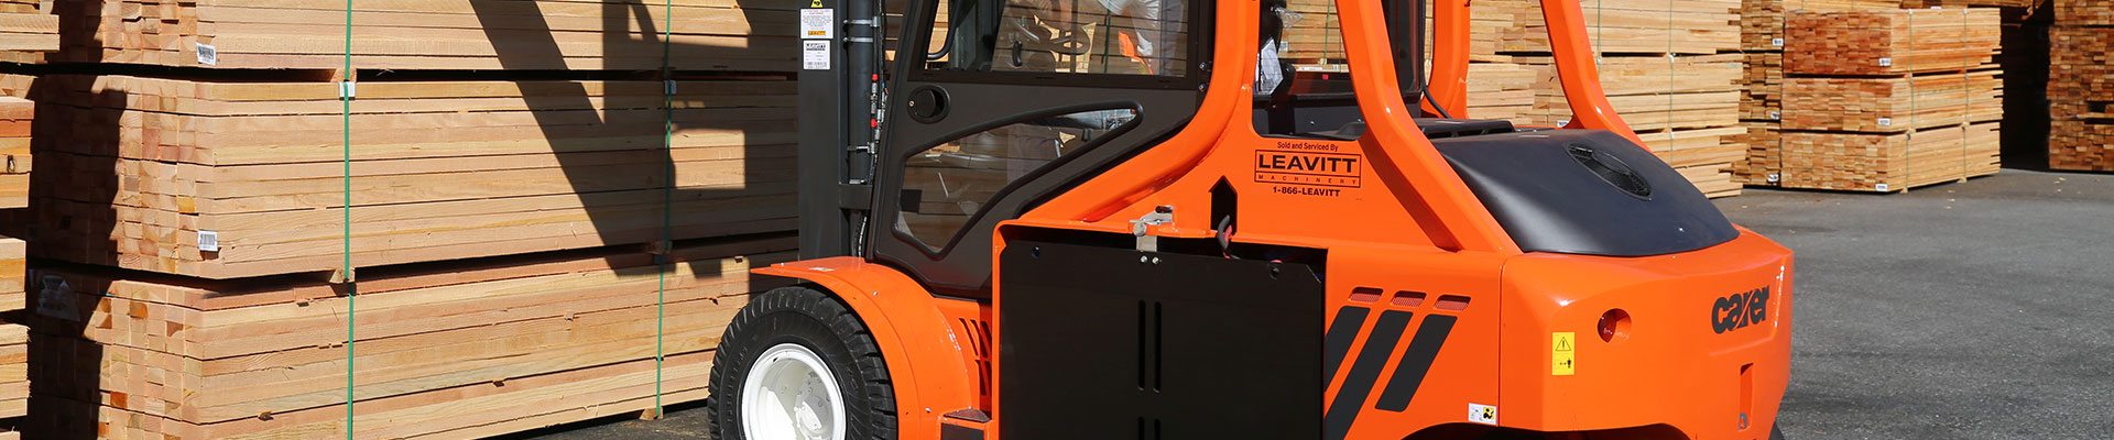
[[[987,298],[998,222],[1197,114],[1207,8],[911,0],[888,85],[869,256],[934,292]]]

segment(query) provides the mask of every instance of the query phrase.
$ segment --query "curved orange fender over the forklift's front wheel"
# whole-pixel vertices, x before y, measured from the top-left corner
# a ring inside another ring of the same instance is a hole
[[[949,410],[979,408],[975,377],[964,364],[964,338],[917,281],[884,264],[835,256],[755,269],[759,275],[805,279],[835,294],[867,324],[896,389],[898,438],[939,438]]]

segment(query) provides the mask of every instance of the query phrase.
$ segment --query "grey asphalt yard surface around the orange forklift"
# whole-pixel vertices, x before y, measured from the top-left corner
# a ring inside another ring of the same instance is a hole
[[[1719,207],[1799,252],[1786,438],[2114,438],[2114,176],[2004,169]],[[704,436],[689,406],[514,438]]]

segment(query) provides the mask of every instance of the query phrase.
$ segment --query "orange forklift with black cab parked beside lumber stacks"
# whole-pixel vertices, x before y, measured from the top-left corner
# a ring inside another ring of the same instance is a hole
[[[1778,438],[1793,254],[1609,108],[1575,0],[1566,127],[1469,118],[1467,0],[805,6],[803,260],[717,438]]]

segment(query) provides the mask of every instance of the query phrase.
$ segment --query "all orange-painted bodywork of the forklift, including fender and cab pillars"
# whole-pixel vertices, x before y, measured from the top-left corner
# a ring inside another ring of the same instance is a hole
[[[1406,438],[1431,427],[1482,423],[1533,432],[1672,427],[1683,438],[1767,438],[1788,381],[1791,252],[1742,231],[1714,248],[1602,258],[1522,252],[1461,176],[1414,125],[1423,104],[1399,99],[1378,0],[1340,0],[1345,49],[1368,131],[1357,142],[1264,138],[1249,123],[1258,2],[1220,2],[1211,78],[1199,114],[1180,133],[1133,159],[1002,222],[994,256],[1021,228],[1131,233],[1129,220],[1173,207],[1150,226],[1158,237],[1213,237],[1205,212],[1211,186],[1241,195],[1241,243],[1328,250],[1325,313],[1366,309],[1408,313],[1402,343],[1372,347],[1385,360],[1380,383],[1351,381],[1338,368],[1321,402],[1357,404],[1345,438]],[[1465,114],[1467,2],[1435,6],[1433,99]],[[1594,72],[1575,0],[1543,0],[1556,63],[1575,116],[1571,127],[1607,129],[1636,142],[1609,108]],[[1638,142],[1640,144],[1640,142]],[[1349,159],[1328,190],[1268,182],[1258,167],[1273,154]],[[994,258],[998,260],[998,258]],[[839,294],[867,319],[896,374],[901,438],[937,438],[939,415],[983,408],[1000,415],[994,389],[1004,364],[1004,273],[994,267],[991,305],[934,298],[890,267],[824,258],[759,269],[801,277]],[[1725,296],[1767,288],[1767,317],[1717,332]],[[1630,317],[1613,343],[1600,341],[1602,313]],[[1708,319],[1706,319],[1708,317]],[[958,322],[987,322],[989,338]],[[1448,322],[1423,383],[1402,410],[1380,410],[1380,389],[1397,377],[1408,336]],[[1345,362],[1368,351],[1376,319],[1366,319]],[[1573,332],[1575,374],[1552,370],[1552,334]],[[975,343],[964,343],[975,336]],[[981,347],[981,349],[979,349]],[[983,368],[989,366],[985,372]],[[1744,366],[1744,368],[1742,368]],[[1364,393],[1364,398],[1359,398]],[[1490,419],[1469,408],[1490,406]],[[1317,408],[1330,410],[1330,408]],[[1748,421],[1742,427],[1742,415]]]

